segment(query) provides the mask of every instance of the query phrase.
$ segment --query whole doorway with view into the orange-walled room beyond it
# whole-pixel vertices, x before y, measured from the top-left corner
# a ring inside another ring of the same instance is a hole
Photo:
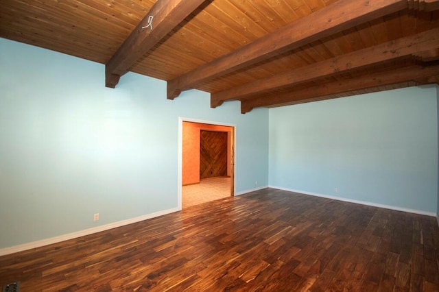
[[[235,195],[235,126],[180,119],[181,208]]]

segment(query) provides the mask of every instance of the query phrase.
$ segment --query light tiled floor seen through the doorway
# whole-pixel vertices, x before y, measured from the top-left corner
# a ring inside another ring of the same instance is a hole
[[[182,208],[230,197],[230,178],[211,178],[182,188]]]

